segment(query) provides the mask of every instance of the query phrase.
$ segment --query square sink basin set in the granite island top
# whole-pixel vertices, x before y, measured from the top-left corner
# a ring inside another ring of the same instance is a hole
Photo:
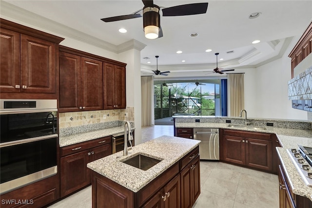
[[[157,163],[159,163],[161,160],[152,158],[152,157],[148,157],[145,156],[143,154],[138,154],[134,157],[131,157],[125,161],[123,161],[123,163],[131,165],[133,167],[136,167],[138,169],[141,170],[148,170],[150,168],[152,168],[153,166],[155,166]]]

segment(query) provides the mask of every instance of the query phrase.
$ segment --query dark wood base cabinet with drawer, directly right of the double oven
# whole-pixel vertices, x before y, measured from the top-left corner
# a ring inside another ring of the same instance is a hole
[[[111,136],[61,148],[60,197],[91,184],[87,164],[110,154]]]

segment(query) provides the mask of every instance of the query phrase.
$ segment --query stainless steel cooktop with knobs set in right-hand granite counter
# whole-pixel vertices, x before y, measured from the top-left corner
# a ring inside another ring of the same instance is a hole
[[[287,152],[304,182],[312,187],[312,148],[299,145],[298,149],[288,149]]]

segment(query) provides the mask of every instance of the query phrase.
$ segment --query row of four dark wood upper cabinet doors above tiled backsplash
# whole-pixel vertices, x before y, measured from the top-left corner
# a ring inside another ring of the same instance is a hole
[[[125,66],[59,46],[59,112],[115,109],[106,108],[106,103],[126,108]]]

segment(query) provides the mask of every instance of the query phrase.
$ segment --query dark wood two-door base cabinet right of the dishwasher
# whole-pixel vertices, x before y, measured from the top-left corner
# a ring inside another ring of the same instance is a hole
[[[224,129],[223,160],[257,170],[272,171],[271,134]]]

